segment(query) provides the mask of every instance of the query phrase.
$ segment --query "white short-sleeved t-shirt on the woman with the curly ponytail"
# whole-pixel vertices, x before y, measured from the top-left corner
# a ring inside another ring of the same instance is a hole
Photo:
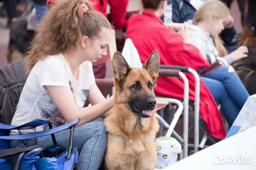
[[[32,68],[20,95],[11,125],[20,126],[37,118],[50,119],[54,127],[65,124],[66,120],[44,86],[70,87],[77,107],[82,108],[87,100],[89,88],[94,82],[91,62],[85,61],[80,65],[79,77],[76,80],[62,54],[47,56]],[[44,130],[43,127],[36,128],[36,132],[42,130]],[[10,133],[10,135],[16,134],[18,134],[17,130],[12,130]]]

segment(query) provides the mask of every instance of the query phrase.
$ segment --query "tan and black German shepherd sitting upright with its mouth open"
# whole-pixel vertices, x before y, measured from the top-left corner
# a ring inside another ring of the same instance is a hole
[[[142,69],[132,69],[122,54],[113,57],[115,101],[113,112],[105,118],[108,134],[105,164],[108,170],[153,170],[156,166],[154,116],[160,57],[157,50]]]

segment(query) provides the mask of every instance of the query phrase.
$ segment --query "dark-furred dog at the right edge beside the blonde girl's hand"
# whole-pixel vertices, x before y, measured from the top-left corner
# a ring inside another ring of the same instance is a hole
[[[250,95],[256,93],[256,37],[249,24],[244,26],[239,46],[248,48],[248,57],[232,64]]]

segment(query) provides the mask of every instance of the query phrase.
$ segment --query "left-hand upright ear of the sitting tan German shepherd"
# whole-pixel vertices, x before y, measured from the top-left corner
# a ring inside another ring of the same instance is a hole
[[[130,72],[130,70],[132,70],[132,68],[129,66],[120,52],[115,52],[112,59],[112,65],[114,71],[114,79],[118,85],[122,87],[127,74]]]

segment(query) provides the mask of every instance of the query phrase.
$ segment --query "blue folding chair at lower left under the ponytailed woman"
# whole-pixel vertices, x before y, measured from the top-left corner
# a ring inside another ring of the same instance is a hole
[[[52,128],[48,119],[36,119],[21,126],[0,123],[0,169],[1,170],[73,170],[78,163],[77,148],[73,148],[74,126],[80,119]],[[37,133],[9,136],[10,130],[32,129],[48,125],[49,130]],[[70,129],[69,149],[58,145],[55,133]],[[26,140],[51,135],[53,146],[42,150],[38,145],[10,148],[10,140]]]

